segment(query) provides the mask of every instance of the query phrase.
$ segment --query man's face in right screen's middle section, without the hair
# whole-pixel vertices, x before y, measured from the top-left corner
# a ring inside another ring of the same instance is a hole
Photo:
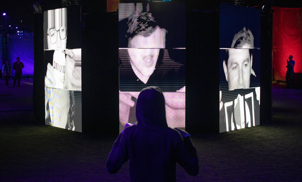
[[[249,49],[230,49],[227,62],[229,90],[249,88],[250,76],[251,58]]]

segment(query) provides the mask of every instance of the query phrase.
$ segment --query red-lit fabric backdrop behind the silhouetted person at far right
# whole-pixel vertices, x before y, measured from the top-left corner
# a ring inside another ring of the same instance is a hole
[[[278,8],[273,13],[273,63],[276,80],[285,80],[286,60],[293,55],[294,72],[302,71],[302,8]],[[283,78],[284,77],[284,78]]]

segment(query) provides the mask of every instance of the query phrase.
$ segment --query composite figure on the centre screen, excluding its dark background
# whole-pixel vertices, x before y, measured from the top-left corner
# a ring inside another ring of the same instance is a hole
[[[184,129],[185,84],[171,84],[179,75],[184,76],[179,71],[183,65],[172,60],[169,64],[162,63],[167,30],[156,23],[148,4],[143,10],[142,3],[136,4],[127,26],[127,52],[120,50],[120,58],[128,56],[120,60],[120,132],[127,122],[136,121],[133,108],[139,91],[147,86],[158,86],[164,91],[169,127]]]

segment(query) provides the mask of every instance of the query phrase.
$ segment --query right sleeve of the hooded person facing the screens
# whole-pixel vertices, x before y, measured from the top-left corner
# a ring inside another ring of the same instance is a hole
[[[196,176],[199,172],[198,157],[196,149],[192,144],[191,137],[182,137],[179,135],[176,147],[176,162],[180,164],[188,174]]]

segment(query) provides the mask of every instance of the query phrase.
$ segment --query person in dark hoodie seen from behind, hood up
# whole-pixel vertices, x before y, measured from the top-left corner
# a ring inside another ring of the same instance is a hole
[[[110,174],[128,159],[131,181],[176,181],[176,162],[188,174],[198,174],[198,157],[191,137],[185,131],[168,127],[165,98],[158,87],[146,87],[140,92],[136,117],[137,124],[126,127],[113,144],[107,160]]]

